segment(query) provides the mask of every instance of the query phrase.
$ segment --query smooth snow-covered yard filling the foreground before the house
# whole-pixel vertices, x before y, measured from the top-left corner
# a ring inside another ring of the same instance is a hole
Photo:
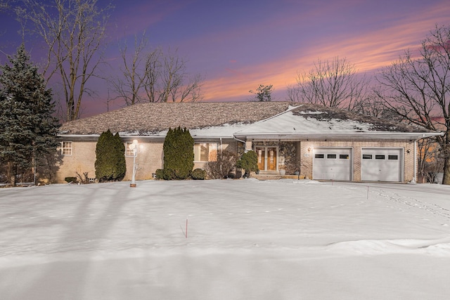
[[[0,298],[450,299],[450,186],[137,183],[0,189]]]

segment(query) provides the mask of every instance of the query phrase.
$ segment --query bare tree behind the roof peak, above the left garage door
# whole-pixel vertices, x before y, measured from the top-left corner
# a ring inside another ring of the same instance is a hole
[[[345,58],[319,59],[309,72],[297,74],[297,84],[288,86],[288,100],[353,110],[367,88],[366,76]]]

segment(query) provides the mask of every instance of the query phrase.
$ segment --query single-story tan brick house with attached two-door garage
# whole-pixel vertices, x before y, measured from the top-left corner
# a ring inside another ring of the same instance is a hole
[[[108,129],[127,149],[124,180],[131,179],[133,159],[136,180],[153,178],[162,169],[167,130],[178,126],[194,138],[194,168],[215,160],[219,150],[255,150],[260,174],[400,183],[416,180],[417,141],[442,134],[308,103],[145,103],[63,124],[56,180],[95,177],[96,142]]]

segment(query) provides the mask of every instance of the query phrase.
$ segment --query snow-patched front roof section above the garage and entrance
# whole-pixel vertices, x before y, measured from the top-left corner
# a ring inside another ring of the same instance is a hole
[[[304,138],[336,136],[429,136],[434,131],[419,126],[392,122],[333,107],[302,103],[286,112],[247,126],[235,133],[239,137]]]

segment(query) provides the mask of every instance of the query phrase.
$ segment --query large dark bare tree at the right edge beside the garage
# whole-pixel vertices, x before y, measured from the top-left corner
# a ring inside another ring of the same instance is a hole
[[[435,27],[418,55],[405,51],[378,76],[378,96],[397,115],[435,131],[444,158],[444,180],[450,184],[450,27]]]

